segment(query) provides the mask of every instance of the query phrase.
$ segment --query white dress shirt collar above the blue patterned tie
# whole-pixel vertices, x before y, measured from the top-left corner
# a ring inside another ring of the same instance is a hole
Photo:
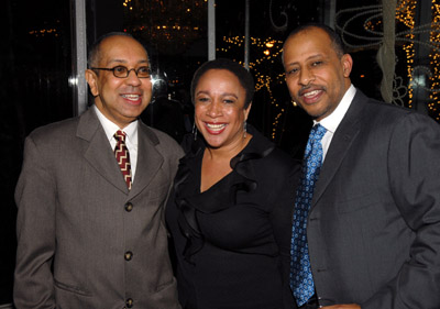
[[[326,159],[326,154],[330,147],[330,143],[331,140],[333,139],[334,132],[337,131],[339,124],[341,123],[346,111],[349,110],[351,101],[353,100],[355,93],[356,93],[356,88],[354,88],[354,86],[351,85],[350,88],[345,91],[345,95],[342,97],[341,102],[339,102],[338,107],[331,114],[329,114],[321,121],[314,120],[314,125],[320,123],[323,128],[327,129],[327,132],[321,140],[322,152],[323,152],[322,162]]]

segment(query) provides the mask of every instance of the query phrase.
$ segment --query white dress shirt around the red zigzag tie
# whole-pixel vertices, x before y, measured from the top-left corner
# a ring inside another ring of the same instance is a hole
[[[138,120],[131,122],[124,129],[120,129],[117,124],[105,117],[103,113],[95,104],[94,108],[113,151],[117,146],[117,140],[113,136],[114,133],[117,133],[118,130],[122,130],[123,132],[125,132],[125,145],[130,153],[131,181],[134,183],[134,174],[136,172],[138,164]]]

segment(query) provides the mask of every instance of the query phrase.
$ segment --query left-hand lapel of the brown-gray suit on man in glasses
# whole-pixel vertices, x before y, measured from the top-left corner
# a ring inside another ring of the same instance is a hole
[[[77,136],[89,142],[84,156],[90,165],[119,190],[129,194],[111,145],[92,109],[80,117]]]

